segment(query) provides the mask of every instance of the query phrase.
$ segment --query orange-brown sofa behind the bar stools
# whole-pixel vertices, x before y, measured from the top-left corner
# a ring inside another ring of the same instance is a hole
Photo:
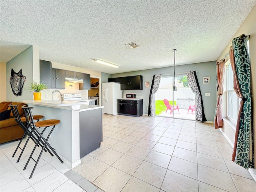
[[[9,104],[19,105],[18,112],[20,116],[24,116],[23,109],[21,106],[26,105],[22,102],[1,102],[0,103],[0,112],[10,109]],[[27,105],[26,105],[27,106]],[[0,121],[0,143],[5,143],[12,140],[19,140],[22,138],[24,130],[17,124],[14,120],[12,112],[10,118]]]

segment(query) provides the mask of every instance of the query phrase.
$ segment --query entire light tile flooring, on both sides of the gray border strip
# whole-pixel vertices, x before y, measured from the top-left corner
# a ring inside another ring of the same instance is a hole
[[[230,160],[232,148],[212,124],[103,115],[103,131],[101,147],[74,170],[106,192],[255,192],[256,183]],[[11,156],[17,144],[0,145],[1,192],[84,191],[48,153],[28,179],[34,163],[23,168],[34,144],[29,143],[16,163],[19,152]]]

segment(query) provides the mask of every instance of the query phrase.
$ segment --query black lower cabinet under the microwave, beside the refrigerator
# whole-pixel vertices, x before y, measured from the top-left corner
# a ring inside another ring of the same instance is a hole
[[[140,117],[143,115],[143,100],[118,99],[118,114]]]

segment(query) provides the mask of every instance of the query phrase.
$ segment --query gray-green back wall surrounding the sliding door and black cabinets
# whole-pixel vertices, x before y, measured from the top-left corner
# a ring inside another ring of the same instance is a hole
[[[197,71],[196,75],[198,77],[198,82],[200,85],[202,99],[204,103],[204,112],[206,119],[208,121],[214,121],[214,112],[216,107],[216,62],[202,62],[195,64],[179,65],[176,66],[176,74],[185,73],[186,71]],[[173,67],[156,68],[149,70],[141,70],[134,72],[118,73],[112,74],[111,77],[122,77],[122,76],[133,76],[142,75],[143,76],[143,90],[124,90],[123,96],[126,93],[136,92],[136,96],[143,96],[143,114],[148,114],[148,98],[150,87],[145,87],[145,81],[152,83],[152,78],[154,74],[173,74]],[[205,76],[210,76],[210,84],[203,84],[202,79]],[[103,82],[103,81],[102,81]],[[204,96],[204,93],[210,93],[210,96]]]

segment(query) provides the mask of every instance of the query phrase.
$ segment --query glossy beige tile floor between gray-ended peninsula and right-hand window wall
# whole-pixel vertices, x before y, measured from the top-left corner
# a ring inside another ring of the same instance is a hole
[[[213,124],[103,115],[101,147],[74,170],[105,192],[255,192]]]

